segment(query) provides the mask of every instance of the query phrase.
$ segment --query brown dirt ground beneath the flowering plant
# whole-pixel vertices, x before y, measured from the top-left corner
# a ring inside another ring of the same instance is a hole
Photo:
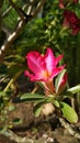
[[[16,103],[9,113],[9,125],[15,118],[22,122],[3,131],[0,143],[80,143],[80,122],[69,124],[56,114],[35,118],[32,103]]]

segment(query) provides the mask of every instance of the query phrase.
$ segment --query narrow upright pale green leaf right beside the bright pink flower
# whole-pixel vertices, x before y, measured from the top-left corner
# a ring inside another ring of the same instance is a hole
[[[61,82],[61,79],[62,79],[65,73],[66,73],[66,69],[64,69],[64,70],[58,75],[58,77],[56,78],[56,81],[55,81],[56,92],[58,92],[58,88],[59,88],[59,86],[60,86],[60,82]]]

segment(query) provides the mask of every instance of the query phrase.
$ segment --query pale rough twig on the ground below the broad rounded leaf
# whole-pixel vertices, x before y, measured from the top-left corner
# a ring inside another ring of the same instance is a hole
[[[67,123],[65,119],[59,118],[61,125],[69,132],[70,135],[75,136],[76,139],[80,139],[80,133],[75,131],[71,124]]]

